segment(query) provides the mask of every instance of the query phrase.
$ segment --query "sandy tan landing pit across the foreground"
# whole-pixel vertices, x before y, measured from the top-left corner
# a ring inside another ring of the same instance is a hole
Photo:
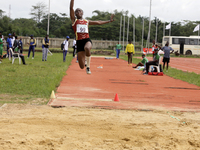
[[[0,150],[198,150],[200,113],[4,104]]]

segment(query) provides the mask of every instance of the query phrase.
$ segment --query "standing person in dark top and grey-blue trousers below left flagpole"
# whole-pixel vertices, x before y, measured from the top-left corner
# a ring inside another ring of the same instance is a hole
[[[45,39],[43,39],[43,42],[42,42],[42,61],[44,60],[47,61],[49,45],[50,45],[49,35],[46,35]]]

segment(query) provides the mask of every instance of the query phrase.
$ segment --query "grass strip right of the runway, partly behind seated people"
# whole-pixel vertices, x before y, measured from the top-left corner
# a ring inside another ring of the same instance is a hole
[[[121,55],[120,58],[123,59],[123,60],[126,60],[126,61],[128,60],[127,55]],[[142,57],[141,57],[141,59],[133,57],[133,63],[134,64],[138,64],[141,60],[142,60]],[[186,81],[190,84],[194,84],[194,85],[197,85],[197,86],[200,87],[200,75],[196,74],[194,72],[184,72],[182,70],[178,70],[178,69],[174,69],[174,68],[169,67],[168,72],[166,72],[166,70],[164,70],[164,74],[166,74],[166,75],[168,75],[168,76],[170,76],[174,79]]]

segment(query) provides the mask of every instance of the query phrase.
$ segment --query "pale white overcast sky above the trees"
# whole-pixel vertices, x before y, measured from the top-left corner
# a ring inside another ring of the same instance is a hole
[[[51,13],[66,13],[69,16],[70,0],[50,0]],[[32,5],[44,2],[47,6],[49,0],[6,0],[1,3],[0,9],[9,14],[11,5],[11,18],[31,18],[30,10]],[[92,11],[129,11],[136,17],[149,16],[150,0],[75,0],[74,8],[82,8],[84,17],[91,17]],[[152,0],[151,18],[158,17],[166,22],[178,22],[183,20],[200,20],[200,0]]]

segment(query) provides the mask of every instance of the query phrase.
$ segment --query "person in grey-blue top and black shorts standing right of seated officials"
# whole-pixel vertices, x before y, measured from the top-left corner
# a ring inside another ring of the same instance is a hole
[[[174,52],[174,49],[172,49],[169,46],[169,42],[165,44],[164,47],[161,48],[161,50],[164,51],[164,57],[163,57],[163,70],[165,69],[165,63],[167,63],[167,72],[168,72],[168,67],[169,67],[169,62],[170,62],[170,54]],[[172,51],[172,52],[171,52]]]

